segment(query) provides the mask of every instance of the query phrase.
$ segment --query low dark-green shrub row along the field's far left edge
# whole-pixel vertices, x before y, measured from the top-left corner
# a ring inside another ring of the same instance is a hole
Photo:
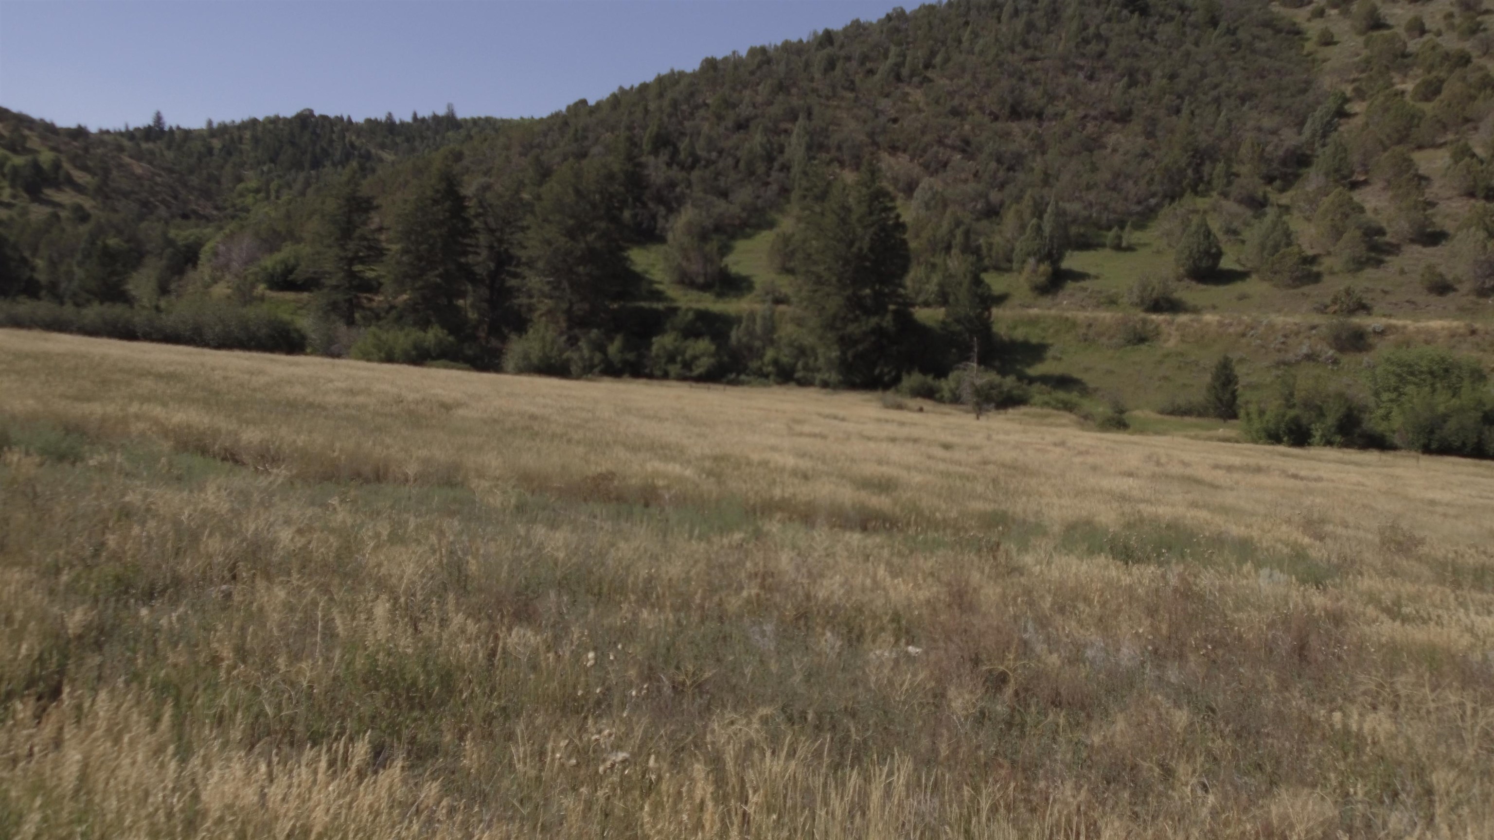
[[[164,312],[120,303],[64,306],[46,300],[6,300],[0,302],[0,327],[214,350],[306,351],[306,333],[294,323],[266,309],[226,300],[188,300]]]

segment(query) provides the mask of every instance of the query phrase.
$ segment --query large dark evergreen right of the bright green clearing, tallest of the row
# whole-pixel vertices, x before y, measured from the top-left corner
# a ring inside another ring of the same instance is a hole
[[[807,208],[795,300],[804,306],[831,381],[881,386],[901,374],[899,344],[911,321],[902,280],[907,227],[875,166],[856,182],[831,184]]]

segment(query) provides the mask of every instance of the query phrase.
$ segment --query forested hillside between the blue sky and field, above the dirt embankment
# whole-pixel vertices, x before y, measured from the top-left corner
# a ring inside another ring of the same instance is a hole
[[[3,112],[0,294],[37,300],[3,323],[1094,405],[1103,383],[1034,377],[992,308],[1494,294],[1484,22],[1472,0],[956,0],[544,120]],[[964,383],[973,356],[1007,377]]]

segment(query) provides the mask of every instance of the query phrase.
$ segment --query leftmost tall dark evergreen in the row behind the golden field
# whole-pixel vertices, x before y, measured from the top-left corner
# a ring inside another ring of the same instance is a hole
[[[374,230],[374,199],[363,194],[363,176],[350,166],[332,190],[312,241],[312,271],[321,281],[317,308],[347,326],[357,323],[363,296],[378,288],[384,245]]]

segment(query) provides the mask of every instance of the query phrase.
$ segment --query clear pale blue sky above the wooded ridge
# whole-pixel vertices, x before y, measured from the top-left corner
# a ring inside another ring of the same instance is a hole
[[[0,105],[60,126],[542,117],[904,0],[0,0]]]

